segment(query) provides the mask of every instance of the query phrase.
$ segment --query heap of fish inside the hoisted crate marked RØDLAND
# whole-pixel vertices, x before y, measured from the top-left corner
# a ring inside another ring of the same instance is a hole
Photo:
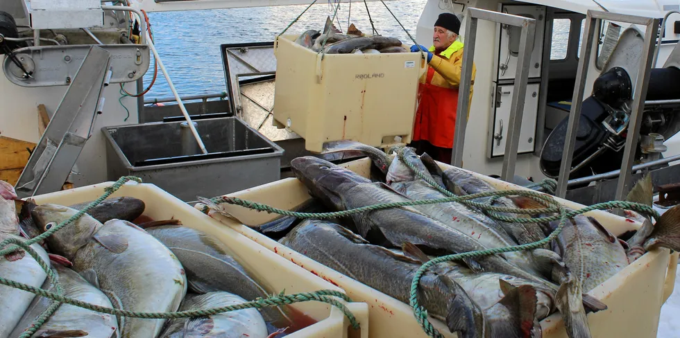
[[[325,44],[324,44],[325,41]],[[332,24],[330,17],[326,18],[323,30],[310,29],[300,34],[296,44],[319,52],[323,48],[326,54],[380,54],[380,53],[408,53],[402,46],[400,39],[383,37],[380,35],[366,36],[351,24],[346,34]]]

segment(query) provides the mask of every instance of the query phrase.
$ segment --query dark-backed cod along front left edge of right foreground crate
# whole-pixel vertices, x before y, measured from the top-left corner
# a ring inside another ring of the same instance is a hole
[[[326,221],[305,220],[281,242],[407,304],[411,281],[421,265]],[[509,290],[483,311],[458,281],[435,271],[430,269],[420,278],[418,299],[427,313],[445,321],[451,332],[460,332],[461,337],[529,337],[536,311],[532,287]]]

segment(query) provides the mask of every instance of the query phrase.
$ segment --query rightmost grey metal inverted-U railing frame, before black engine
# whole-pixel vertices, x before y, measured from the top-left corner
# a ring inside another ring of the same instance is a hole
[[[633,103],[631,105],[631,116],[628,125],[628,134],[626,136],[626,145],[624,148],[624,158],[621,163],[621,172],[618,185],[616,187],[615,198],[618,200],[624,199],[630,190],[631,175],[633,172],[632,167],[636,153],[636,144],[638,142],[638,136],[640,136],[640,124],[642,123],[643,116],[642,112],[645,105],[645,96],[647,96],[647,86],[649,84],[649,69],[652,67],[652,55],[654,54],[656,32],[658,30],[658,19],[588,10],[586,15],[586,28],[584,29],[583,35],[583,39],[586,41],[586,44],[581,47],[581,57],[579,57],[579,68],[576,77],[576,87],[574,90],[574,95],[572,96],[572,107],[569,114],[565,146],[562,153],[562,162],[560,163],[559,177],[557,179],[556,196],[558,197],[565,197],[567,193],[569,175],[571,173],[571,162],[574,152],[574,143],[576,141],[578,124],[581,118],[581,103],[584,94],[586,72],[588,70],[588,62],[590,61],[590,53],[592,52],[593,48],[593,37],[595,35],[593,27],[595,27],[596,24],[602,22],[602,20],[627,22],[630,24],[643,25],[646,27],[645,49],[643,50],[643,54],[640,57],[640,68],[638,69],[635,81]]]

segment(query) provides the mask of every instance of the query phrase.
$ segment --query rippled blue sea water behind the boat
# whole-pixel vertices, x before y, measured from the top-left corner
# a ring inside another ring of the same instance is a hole
[[[380,35],[396,37],[412,44],[408,33],[416,37],[416,25],[426,0],[393,0],[341,3],[334,24],[347,30],[355,24],[364,33],[371,33],[371,15]],[[308,29],[321,30],[326,18],[332,17],[334,4],[318,1],[287,30],[301,33]],[[368,6],[368,11],[366,10]],[[304,6],[271,6],[231,8],[224,10],[196,10],[187,12],[148,13],[153,41],[161,60],[180,96],[219,94],[226,91],[220,54],[221,44],[272,42],[296,17]],[[390,13],[391,10],[391,13]],[[406,28],[404,30],[398,21]],[[565,51],[568,22],[556,23],[552,55]],[[153,78],[153,62],[144,75],[144,87]],[[128,84],[128,86],[130,86]],[[130,86],[132,87],[132,86]],[[132,90],[128,90],[132,91]],[[164,76],[158,76],[145,100],[172,96]]]

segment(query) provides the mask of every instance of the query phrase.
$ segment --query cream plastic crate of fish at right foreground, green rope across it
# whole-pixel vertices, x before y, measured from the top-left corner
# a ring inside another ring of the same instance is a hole
[[[359,175],[368,177],[371,168],[369,159],[359,159],[341,166],[346,167]],[[439,163],[441,168],[450,166]],[[479,175],[471,172],[476,177],[484,179],[498,190],[522,189],[522,186],[509,184],[505,181]],[[307,188],[295,178],[282,179],[255,188],[229,194],[231,197],[239,197],[249,201],[260,202],[291,210],[309,199]],[[570,208],[583,208],[581,204],[570,202],[566,199],[555,199]],[[226,204],[223,204],[226,206]],[[196,204],[195,208],[203,208],[203,204]],[[394,299],[379,292],[368,285],[364,285],[354,279],[345,276],[333,269],[325,267],[316,261],[307,258],[296,251],[288,249],[284,245],[267,238],[266,236],[250,229],[255,226],[273,220],[277,215],[257,212],[241,206],[226,206],[228,213],[241,221],[235,222],[230,217],[210,211],[211,217],[220,220],[224,224],[230,224],[233,229],[246,235],[253,241],[287,258],[291,262],[304,267],[321,276],[326,281],[338,285],[345,290],[353,300],[364,301],[369,305],[368,318],[370,321],[370,336],[376,338],[427,338],[428,336],[420,328],[414,318],[413,310],[406,303]],[[638,229],[639,222],[619,217],[606,211],[591,211],[585,215],[595,217],[611,233],[620,235],[631,229]],[[636,337],[656,338],[658,318],[661,305],[672,294],[675,283],[678,253],[670,253],[669,249],[655,249],[645,253],[634,263],[622,269],[609,280],[598,285],[588,292],[591,296],[604,302],[608,309],[588,314],[588,323],[592,337]],[[444,337],[457,337],[450,333],[445,324],[439,320],[431,319],[434,327]],[[555,312],[541,321],[543,338],[567,338],[564,323],[559,312]]]

